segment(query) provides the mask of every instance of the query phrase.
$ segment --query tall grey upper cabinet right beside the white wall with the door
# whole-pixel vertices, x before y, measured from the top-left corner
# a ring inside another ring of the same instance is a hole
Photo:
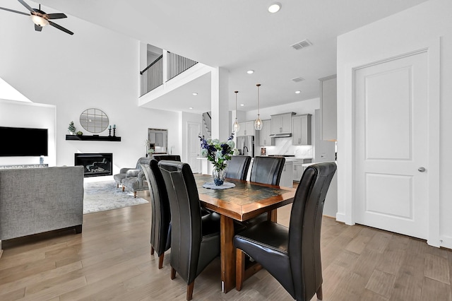
[[[321,140],[338,139],[338,88],[336,76],[320,78]]]

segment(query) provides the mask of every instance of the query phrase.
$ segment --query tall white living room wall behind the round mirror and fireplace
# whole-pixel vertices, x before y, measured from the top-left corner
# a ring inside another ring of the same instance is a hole
[[[167,129],[168,146],[179,151],[178,114],[138,107],[139,42],[73,16],[57,23],[74,35],[51,26],[38,33],[30,20],[14,13],[2,13],[0,20],[1,45],[8,45],[0,47],[0,78],[32,102],[56,107],[54,164],[73,165],[78,152],[105,152],[113,153],[114,173],[134,167],[145,155],[148,128]],[[91,107],[103,110],[110,124],[117,125],[121,142],[65,140],[71,121],[90,134],[79,117]],[[30,117],[34,122],[44,118]]]

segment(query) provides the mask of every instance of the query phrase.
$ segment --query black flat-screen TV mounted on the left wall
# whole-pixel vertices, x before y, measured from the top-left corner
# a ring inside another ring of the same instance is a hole
[[[49,155],[47,129],[0,126],[0,156]]]

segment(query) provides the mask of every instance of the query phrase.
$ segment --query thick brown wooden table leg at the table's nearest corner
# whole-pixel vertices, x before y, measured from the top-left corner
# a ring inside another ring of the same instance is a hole
[[[235,250],[232,244],[234,221],[227,216],[220,218],[221,290],[227,293],[235,288]]]

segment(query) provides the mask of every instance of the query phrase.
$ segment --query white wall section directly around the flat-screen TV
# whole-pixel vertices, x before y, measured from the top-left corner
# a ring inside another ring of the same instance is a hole
[[[44,163],[54,166],[57,161],[55,148],[55,106],[40,105],[31,102],[0,100],[0,126],[17,126],[37,129],[47,129],[49,155],[44,157]],[[40,118],[35,118],[39,116]],[[20,139],[20,137],[16,137]],[[1,141],[14,143],[14,141]],[[0,157],[0,165],[39,164],[39,157]]]

